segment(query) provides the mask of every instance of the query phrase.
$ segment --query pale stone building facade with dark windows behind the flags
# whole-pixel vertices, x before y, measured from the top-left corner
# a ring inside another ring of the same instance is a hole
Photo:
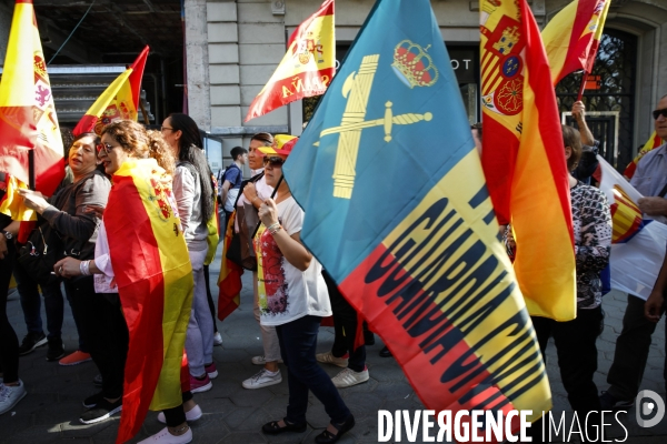
[[[357,36],[374,0],[336,0],[336,39],[345,50]],[[529,1],[540,26],[547,23],[569,0]],[[235,145],[248,144],[248,137],[258,131],[299,134],[303,121],[300,102],[243,122],[248,107],[268,81],[286,51],[293,29],[317,10],[320,0],[186,0],[186,46],[188,67],[189,111],[211,134],[223,139],[222,152]],[[452,68],[461,85],[471,121],[479,118],[479,2],[470,0],[431,0]],[[616,117],[616,133],[625,128],[624,140],[614,143],[625,158],[636,152],[651,132],[649,111],[667,93],[667,2],[661,0],[611,0],[606,30],[616,37],[626,59],[618,61],[626,69],[628,98],[605,99],[600,119]],[[620,37],[619,37],[620,36]],[[626,40],[628,42],[626,42]],[[615,52],[614,47],[608,49]],[[604,75],[616,75],[605,73]],[[563,91],[566,94],[568,91]],[[595,94],[596,92],[593,91]],[[560,99],[560,98],[559,98]],[[564,95],[561,111],[571,100]],[[609,104],[610,103],[610,104]],[[606,108],[605,108],[606,107]],[[593,107],[595,108],[595,107]],[[610,111],[609,111],[610,110]],[[605,114],[606,113],[606,114]],[[604,123],[604,122],[603,122]],[[621,133],[624,132],[621,131]],[[227,163],[227,162],[226,162]]]

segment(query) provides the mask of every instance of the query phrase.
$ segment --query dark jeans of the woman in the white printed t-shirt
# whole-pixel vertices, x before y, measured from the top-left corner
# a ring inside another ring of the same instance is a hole
[[[282,361],[287,365],[287,421],[292,424],[306,423],[308,391],[325,404],[325,411],[332,423],[342,423],[350,415],[338,389],[315,360],[317,332],[321,320],[319,316],[303,316],[276,326]]]

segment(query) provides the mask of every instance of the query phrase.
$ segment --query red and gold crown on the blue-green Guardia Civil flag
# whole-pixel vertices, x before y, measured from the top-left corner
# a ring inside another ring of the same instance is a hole
[[[438,70],[432,59],[417,43],[404,40],[394,50],[394,63],[391,68],[398,78],[410,89],[415,87],[430,87],[438,80]]]

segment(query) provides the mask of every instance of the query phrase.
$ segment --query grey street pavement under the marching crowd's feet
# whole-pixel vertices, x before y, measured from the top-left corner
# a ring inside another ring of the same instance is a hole
[[[220,253],[210,266],[211,287],[217,295],[217,271],[220,268]],[[216,297],[215,297],[216,299]],[[605,331],[598,339],[598,390],[605,390],[606,376],[614,357],[616,336],[621,329],[621,319],[626,305],[626,295],[611,292],[604,299],[606,312]],[[67,306],[67,302],[66,302]],[[43,307],[42,307],[43,311]],[[18,300],[8,302],[8,313],[19,340],[26,334],[21,306]],[[46,317],[42,314],[46,327]],[[665,361],[665,320],[660,321],[646,366],[643,390],[657,392],[665,400],[665,381],[663,366]],[[282,367],[282,383],[260,390],[245,390],[241,382],[257,371],[250,359],[262,354],[260,332],[252,315],[251,274],[243,275],[241,306],[225,322],[218,322],[223,339],[222,346],[215,347],[213,357],[220,375],[213,380],[212,390],[198,393],[195,401],[201,406],[203,417],[192,425],[195,443],[259,444],[259,443],[312,443],[328,424],[322,405],[311,395],[308,408],[308,430],[302,434],[285,433],[277,436],[263,435],[262,424],[285,416],[287,405],[287,370]],[[68,352],[77,344],[77,332],[69,306],[66,307],[63,341]],[[322,327],[318,339],[318,352],[330,350],[334,342],[334,329]],[[354,413],[357,425],[339,442],[377,443],[378,411],[408,410],[415,412],[424,408],[419,398],[408,384],[402,371],[394,359],[379,357],[382,342],[376,335],[376,344],[367,347],[370,380],[349,389],[342,389],[341,395]],[[37,349],[20,360],[20,377],[26,384],[26,396],[11,412],[0,416],[0,443],[40,444],[40,443],[113,443],[118,431],[119,416],[94,425],[80,424],[78,418],[83,407],[81,401],[96,393],[98,387],[92,379],[98,374],[91,362],[60,366],[46,361],[47,347]],[[325,371],[334,376],[340,370],[323,365]],[[547,369],[554,396],[554,415],[566,412],[566,424],[569,430],[573,421],[567,395],[560,383],[556,350],[552,343],[547,351]],[[605,441],[626,442],[633,444],[667,443],[667,418],[650,428],[639,427],[635,418],[635,408],[620,414],[619,426],[613,416],[608,423],[615,425],[605,430]],[[157,421],[157,413],[149,412],[141,431],[132,443],[141,441],[163,427]],[[577,434],[571,435],[577,442]],[[563,433],[554,437],[555,442],[564,441]],[[407,442],[405,432],[402,441]],[[417,438],[421,442],[421,436]],[[598,442],[601,442],[599,440]]]

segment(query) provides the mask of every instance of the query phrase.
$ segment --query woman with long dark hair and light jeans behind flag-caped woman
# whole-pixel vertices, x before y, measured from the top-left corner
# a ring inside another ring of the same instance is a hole
[[[206,157],[199,148],[201,137],[197,123],[186,114],[173,113],[162,122],[162,137],[177,159],[173,195],[195,278],[195,299],[188,324],[186,351],[190,366],[190,389],[192,393],[199,393],[211,390],[211,379],[218,376],[213,362],[215,325],[203,273],[203,262],[208,253],[207,222],[213,214],[216,196]]]

